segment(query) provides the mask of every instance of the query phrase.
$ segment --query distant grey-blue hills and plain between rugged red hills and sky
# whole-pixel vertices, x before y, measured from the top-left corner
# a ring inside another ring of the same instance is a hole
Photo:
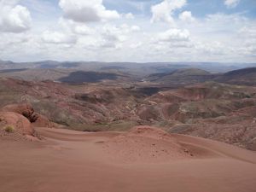
[[[246,68],[244,68],[246,67]],[[0,61],[0,76],[28,81],[96,83],[102,80],[183,85],[216,81],[256,84],[256,64],[243,63],[132,63],[132,62],[13,62]]]

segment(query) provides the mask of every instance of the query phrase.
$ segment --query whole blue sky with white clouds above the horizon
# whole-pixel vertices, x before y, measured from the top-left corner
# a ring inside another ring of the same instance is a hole
[[[256,62],[256,0],[0,0],[0,59]]]

